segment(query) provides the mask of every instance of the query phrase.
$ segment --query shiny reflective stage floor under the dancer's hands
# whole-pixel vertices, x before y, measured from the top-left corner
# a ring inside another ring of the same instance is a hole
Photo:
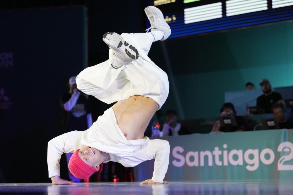
[[[51,183],[0,183],[0,194],[48,195],[258,195],[293,194],[293,180],[193,181],[170,184],[140,185],[133,183],[80,183],[52,185]]]

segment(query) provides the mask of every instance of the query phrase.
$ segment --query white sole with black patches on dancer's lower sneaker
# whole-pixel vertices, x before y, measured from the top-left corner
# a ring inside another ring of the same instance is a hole
[[[132,60],[136,60],[139,57],[139,53],[137,49],[131,44],[127,43],[124,40],[124,38],[117,33],[114,33],[114,32],[105,33],[103,35],[103,41],[107,45],[109,45],[109,47],[113,49],[114,51],[117,51],[123,55],[126,54]],[[119,56],[117,57],[119,58]]]

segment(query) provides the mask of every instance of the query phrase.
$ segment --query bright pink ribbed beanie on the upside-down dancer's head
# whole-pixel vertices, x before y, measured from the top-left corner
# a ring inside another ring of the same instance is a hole
[[[81,158],[78,156],[78,151],[76,150],[68,163],[68,168],[72,175],[80,179],[89,178],[94,172],[98,170],[86,164]]]

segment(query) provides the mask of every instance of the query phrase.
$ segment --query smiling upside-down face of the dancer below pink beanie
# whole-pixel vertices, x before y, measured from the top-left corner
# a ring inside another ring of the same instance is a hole
[[[78,151],[78,156],[89,166],[99,169],[99,157],[101,153],[94,147],[85,146]]]

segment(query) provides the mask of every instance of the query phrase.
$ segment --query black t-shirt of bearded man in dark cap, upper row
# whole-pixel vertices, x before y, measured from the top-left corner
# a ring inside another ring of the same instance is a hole
[[[277,92],[273,92],[270,95],[262,94],[257,98],[256,106],[259,109],[264,110],[265,113],[272,113],[272,105],[273,103],[276,103],[277,101],[281,100],[282,96],[281,94]]]

